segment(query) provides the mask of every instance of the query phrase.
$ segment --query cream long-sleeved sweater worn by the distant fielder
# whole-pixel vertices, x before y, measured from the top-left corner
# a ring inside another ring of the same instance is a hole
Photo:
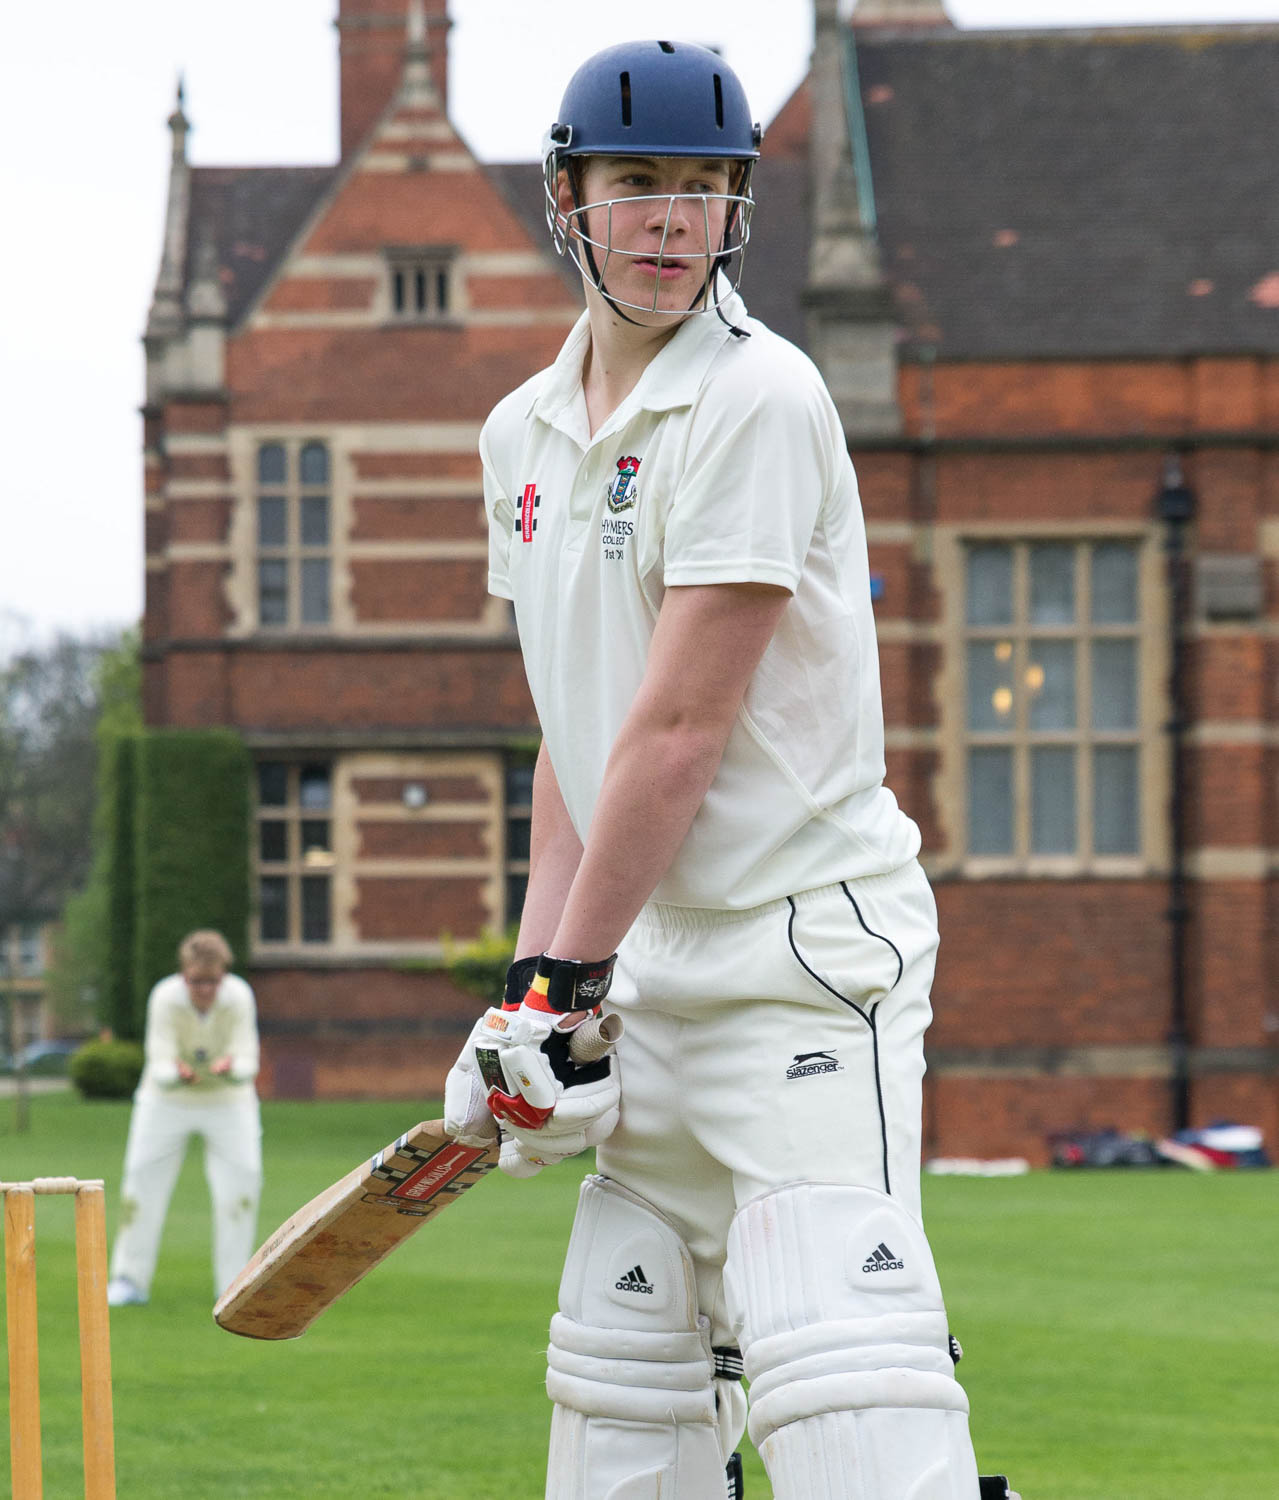
[[[258,1077],[258,1020],[253,992],[235,974],[225,974],[213,1004],[201,1014],[180,974],[160,980],[147,999],[145,1066],[139,1094],[165,1098],[210,1098],[250,1094]],[[231,1059],[228,1076],[210,1072],[219,1058]],[[195,1072],[180,1083],[178,1062]]]

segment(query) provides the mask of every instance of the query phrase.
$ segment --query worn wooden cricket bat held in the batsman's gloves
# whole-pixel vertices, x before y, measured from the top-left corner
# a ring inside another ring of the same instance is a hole
[[[568,1050],[574,1062],[595,1062],[621,1034],[621,1017],[592,1017]],[[298,1338],[496,1164],[496,1143],[463,1146],[444,1120],[414,1125],[283,1222],[217,1299],[214,1322],[244,1338]]]

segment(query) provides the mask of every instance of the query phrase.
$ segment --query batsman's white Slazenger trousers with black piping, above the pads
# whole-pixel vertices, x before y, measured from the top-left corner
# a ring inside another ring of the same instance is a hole
[[[916,861],[745,912],[640,912],[609,996],[622,1106],[597,1161],[681,1230],[712,1342],[733,1341],[724,1251],[759,1194],[849,1184],[921,1220],[936,956]]]

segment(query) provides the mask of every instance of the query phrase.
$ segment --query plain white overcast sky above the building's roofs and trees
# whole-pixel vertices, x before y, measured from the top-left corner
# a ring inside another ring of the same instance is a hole
[[[186,75],[198,165],[330,162],[337,0],[27,0],[0,50],[0,654],[141,612],[145,321]],[[961,27],[1279,22],[1279,0],[949,0]],[[768,123],[811,0],[453,0],[451,114],[481,159],[535,158],[577,62],[634,34],[723,48]],[[624,20],[618,20],[624,15]],[[630,16],[637,21],[633,26]]]

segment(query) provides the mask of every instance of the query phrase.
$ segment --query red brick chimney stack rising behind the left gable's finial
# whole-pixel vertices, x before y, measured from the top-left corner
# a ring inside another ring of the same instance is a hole
[[[342,158],[355,150],[394,98],[412,45],[411,12],[426,22],[430,74],[448,108],[448,0],[339,0]]]

